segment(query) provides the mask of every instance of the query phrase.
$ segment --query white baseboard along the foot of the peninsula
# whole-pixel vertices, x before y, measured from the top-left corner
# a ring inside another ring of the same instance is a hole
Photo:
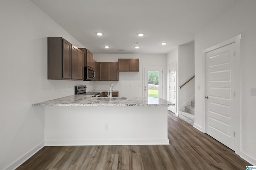
[[[169,145],[169,139],[45,141],[45,146]]]

